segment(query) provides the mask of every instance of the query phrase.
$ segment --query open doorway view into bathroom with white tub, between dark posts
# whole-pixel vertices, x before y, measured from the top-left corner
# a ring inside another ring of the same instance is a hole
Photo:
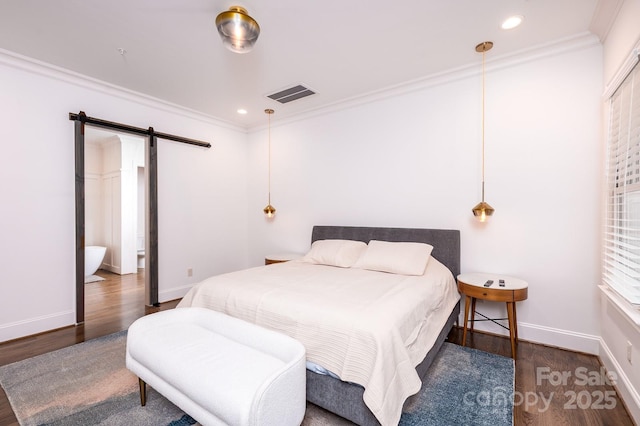
[[[101,290],[146,293],[146,139],[92,126],[86,126],[84,137],[85,316],[90,318],[91,299]]]

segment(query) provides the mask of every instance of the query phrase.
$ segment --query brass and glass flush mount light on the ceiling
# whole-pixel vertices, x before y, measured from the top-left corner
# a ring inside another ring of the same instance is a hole
[[[229,10],[216,17],[216,27],[222,38],[222,44],[236,53],[247,53],[258,41],[260,26],[247,10],[240,6],[231,6]]]

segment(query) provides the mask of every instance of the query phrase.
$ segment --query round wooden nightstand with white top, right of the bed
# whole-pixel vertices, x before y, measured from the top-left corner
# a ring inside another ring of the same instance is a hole
[[[488,280],[493,280],[489,287],[485,287]],[[501,286],[501,282],[504,285]],[[466,296],[464,306],[464,332],[462,334],[462,346],[467,341],[467,328],[471,321],[471,331],[473,331],[473,323],[476,321],[476,300],[488,300],[492,302],[505,302],[507,304],[507,318],[498,318],[498,320],[507,319],[509,321],[509,338],[511,339],[511,357],[516,358],[516,344],[518,342],[518,321],[516,315],[516,302],[526,300],[528,296],[529,284],[520,278],[510,277],[499,274],[460,274],[458,275],[458,290]],[[471,319],[469,319],[469,309],[471,309]],[[496,319],[485,318],[501,327],[504,325],[496,322]]]

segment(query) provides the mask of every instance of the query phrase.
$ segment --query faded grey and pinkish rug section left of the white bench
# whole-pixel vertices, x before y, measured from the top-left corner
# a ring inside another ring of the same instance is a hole
[[[125,344],[123,331],[0,367],[0,385],[20,425],[195,424],[151,388],[140,406]]]

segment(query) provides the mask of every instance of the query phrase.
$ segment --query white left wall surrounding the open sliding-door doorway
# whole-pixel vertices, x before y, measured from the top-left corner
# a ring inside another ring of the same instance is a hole
[[[158,143],[161,301],[246,266],[244,131],[7,52],[0,52],[0,93],[0,341],[75,321],[69,112],[213,144]]]

